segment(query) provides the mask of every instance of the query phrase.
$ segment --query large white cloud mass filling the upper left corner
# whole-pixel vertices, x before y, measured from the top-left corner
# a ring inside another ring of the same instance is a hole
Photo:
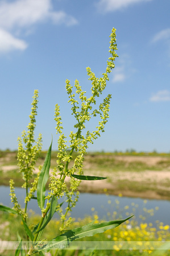
[[[31,31],[32,26],[40,22],[52,20],[55,24],[72,26],[77,20],[64,11],[53,11],[51,0],[15,0],[0,3],[0,51],[26,49],[27,43],[16,39],[16,31]],[[19,36],[19,35],[17,35]],[[5,44],[6,47],[5,47]]]

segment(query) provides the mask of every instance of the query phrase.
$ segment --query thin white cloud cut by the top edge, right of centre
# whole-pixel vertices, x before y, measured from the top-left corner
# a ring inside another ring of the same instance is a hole
[[[152,0],[99,0],[97,3],[98,10],[107,13],[117,11],[139,2],[148,2]]]

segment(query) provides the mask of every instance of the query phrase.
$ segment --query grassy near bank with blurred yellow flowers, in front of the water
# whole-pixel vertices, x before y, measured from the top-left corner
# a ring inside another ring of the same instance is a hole
[[[134,214],[135,213],[135,207],[137,205],[134,205],[134,209],[132,213],[129,213],[128,205],[123,209],[123,212],[126,212],[127,215]],[[155,209],[147,210],[147,214],[150,214],[151,216],[154,214]],[[16,230],[18,230],[18,233],[24,234],[23,226],[20,225],[22,222],[20,217],[16,217],[13,214],[7,214],[7,213],[0,213],[0,239],[3,241],[17,241],[17,234]],[[32,226],[32,224],[35,224],[39,221],[39,216],[36,216],[34,213],[30,213],[31,218],[30,222],[28,222],[28,225]],[[118,218],[121,218],[121,209],[116,209],[113,213],[107,213],[107,215],[110,215],[110,219],[116,220]],[[109,250],[107,250],[107,247],[105,247],[105,250],[96,250],[93,251],[90,250],[82,250],[82,249],[74,249],[74,250],[59,250],[59,254],[57,255],[155,255],[157,247],[161,245],[162,241],[169,241],[170,234],[169,234],[169,225],[164,225],[162,222],[156,221],[156,226],[153,225],[153,223],[146,222],[146,209],[143,208],[143,213],[140,216],[140,218],[143,220],[142,223],[138,223],[133,217],[130,221],[126,221],[125,224],[122,224],[118,226],[115,229],[107,230],[105,233],[102,234],[96,234],[94,237],[86,237],[82,240],[78,241],[98,241],[98,246],[101,246],[101,241],[106,242],[113,242],[111,243],[111,248],[109,247]],[[101,220],[98,220],[97,213],[94,212],[93,216],[85,217],[84,219],[78,218],[77,220],[73,219],[73,222],[71,224],[72,228],[77,228],[78,226],[86,225],[89,222],[94,221],[94,223],[101,222]],[[46,239],[46,241],[51,240],[52,237],[56,237],[59,234],[59,227],[61,223],[58,219],[53,219],[47,227],[45,228],[45,232],[43,234],[43,238]],[[32,227],[33,228],[33,227]],[[26,240],[26,236],[23,236]],[[128,243],[129,242],[129,243]],[[132,242],[132,243],[130,243]],[[158,243],[156,243],[158,242]],[[103,246],[105,246],[105,243],[103,243]],[[126,246],[130,244],[130,247],[128,250],[124,250],[123,246]],[[143,247],[143,244],[145,247]],[[82,243],[83,245],[83,243]],[[110,245],[110,243],[109,243]],[[154,247],[155,246],[155,247]],[[147,250],[148,248],[148,250]],[[55,251],[52,251],[52,253],[55,253]],[[169,255],[168,251],[157,251],[157,255]],[[14,255],[14,251],[1,251],[1,255],[7,255],[11,256]],[[53,254],[52,254],[53,255]]]

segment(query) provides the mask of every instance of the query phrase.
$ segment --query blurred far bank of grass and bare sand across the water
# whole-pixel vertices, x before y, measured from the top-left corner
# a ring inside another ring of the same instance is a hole
[[[9,185],[13,179],[15,185],[20,187],[23,181],[18,172],[17,152],[0,152],[0,185]],[[56,152],[52,152],[51,170],[56,167]],[[42,151],[36,164],[43,164],[46,152]],[[73,159],[76,153],[73,154]],[[72,162],[70,163],[70,167]],[[155,199],[170,199],[170,154],[157,152],[96,152],[85,155],[84,173],[86,175],[106,176],[107,180],[82,182],[81,192],[103,193],[107,188],[110,194],[123,196],[140,196]]]

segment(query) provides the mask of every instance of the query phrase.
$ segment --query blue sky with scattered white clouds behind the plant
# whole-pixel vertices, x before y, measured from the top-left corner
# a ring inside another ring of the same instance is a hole
[[[90,92],[86,67],[106,69],[109,35],[117,29],[119,57],[106,92],[112,94],[105,133],[90,151],[170,151],[169,0],[0,1],[0,148],[14,150],[39,90],[35,136],[57,148],[58,103],[65,134],[74,120],[65,80]],[[90,129],[97,123],[92,120]]]

